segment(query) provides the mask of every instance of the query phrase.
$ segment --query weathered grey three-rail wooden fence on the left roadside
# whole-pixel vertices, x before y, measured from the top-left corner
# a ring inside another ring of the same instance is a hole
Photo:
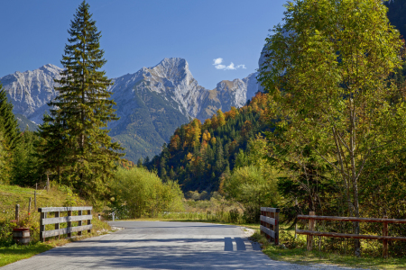
[[[41,212],[40,220],[40,240],[45,241],[45,238],[60,236],[62,234],[67,234],[68,238],[71,237],[72,232],[78,232],[78,235],[82,234],[82,230],[92,229],[92,206],[83,206],[83,207],[43,207],[38,209]],[[61,211],[68,211],[68,216],[60,217]],[[72,211],[78,211],[77,216],[72,216]],[[82,214],[83,211],[88,211],[88,214]],[[54,212],[54,218],[47,219],[47,213]],[[82,220],[88,220],[87,225],[82,225]],[[71,226],[72,221],[77,221],[78,226]],[[67,228],[60,229],[60,223],[68,223]],[[55,229],[46,230],[45,225],[55,224]]]

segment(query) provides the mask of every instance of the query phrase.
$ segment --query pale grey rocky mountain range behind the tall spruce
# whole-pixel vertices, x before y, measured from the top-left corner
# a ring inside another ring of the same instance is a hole
[[[41,123],[47,103],[58,94],[53,78],[60,78],[61,70],[48,64],[1,77],[14,113]],[[120,120],[109,125],[110,135],[126,148],[126,158],[135,162],[139,157],[152,157],[191,118],[205,121],[218,109],[226,112],[231,106],[243,106],[258,91],[255,76],[224,80],[208,90],[198,85],[185,59],[164,58],[155,67],[117,77],[109,90]]]

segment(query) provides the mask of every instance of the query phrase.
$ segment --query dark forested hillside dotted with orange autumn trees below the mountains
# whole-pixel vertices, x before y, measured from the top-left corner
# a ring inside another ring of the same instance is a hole
[[[159,156],[145,160],[163,180],[178,180],[184,192],[217,191],[220,178],[235,167],[235,158],[249,139],[268,130],[263,117],[266,95],[258,93],[242,108],[217,111],[203,124],[195,119],[180,126]]]

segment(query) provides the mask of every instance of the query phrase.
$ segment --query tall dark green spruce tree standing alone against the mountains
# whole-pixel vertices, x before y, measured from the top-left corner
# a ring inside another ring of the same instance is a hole
[[[73,186],[78,193],[91,198],[106,192],[106,179],[113,174],[115,160],[124,150],[112,142],[106,129],[109,121],[118,120],[106,90],[112,85],[105,71],[104,50],[100,49],[100,31],[91,19],[89,5],[83,1],[70,23],[65,53],[60,61],[64,71],[59,95],[49,103],[51,114],[46,116],[41,135],[48,140],[42,155],[54,172],[62,172],[61,182]],[[58,155],[58,158],[55,158]]]

